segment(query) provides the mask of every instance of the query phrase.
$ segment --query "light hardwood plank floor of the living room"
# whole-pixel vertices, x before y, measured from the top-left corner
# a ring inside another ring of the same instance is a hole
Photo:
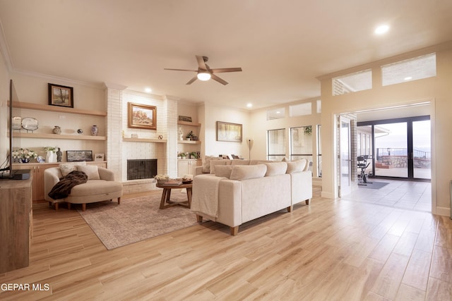
[[[452,300],[451,219],[314,195],[235,237],[209,221],[110,251],[76,210],[37,204],[30,266],[0,274],[0,299]]]

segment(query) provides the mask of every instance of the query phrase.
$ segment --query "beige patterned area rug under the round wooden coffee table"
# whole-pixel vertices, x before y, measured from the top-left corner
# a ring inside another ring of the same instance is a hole
[[[196,216],[185,207],[159,209],[160,194],[121,199],[121,204],[97,202],[78,209],[107,250],[129,245],[196,224]],[[186,200],[186,193],[174,191],[174,201]]]

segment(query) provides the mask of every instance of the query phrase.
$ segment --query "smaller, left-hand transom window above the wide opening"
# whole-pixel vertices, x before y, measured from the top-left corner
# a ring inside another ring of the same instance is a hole
[[[333,78],[333,96],[371,88],[372,70],[370,69]]]

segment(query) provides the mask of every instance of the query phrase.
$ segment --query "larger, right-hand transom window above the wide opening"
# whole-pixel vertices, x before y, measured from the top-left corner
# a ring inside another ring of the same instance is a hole
[[[436,76],[436,54],[381,66],[382,85],[394,85]]]

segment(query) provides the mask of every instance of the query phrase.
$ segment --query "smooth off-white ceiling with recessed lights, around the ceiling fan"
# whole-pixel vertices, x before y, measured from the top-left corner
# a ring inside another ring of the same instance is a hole
[[[318,97],[316,77],[452,40],[451,0],[0,0],[11,70],[246,109]],[[376,36],[376,25],[391,26]],[[0,41],[1,42],[1,41]],[[229,85],[196,80],[195,55]]]

